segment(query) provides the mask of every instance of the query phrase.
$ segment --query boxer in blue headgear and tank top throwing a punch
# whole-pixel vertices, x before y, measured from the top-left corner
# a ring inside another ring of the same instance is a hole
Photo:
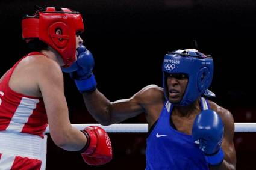
[[[78,79],[93,68],[86,68],[86,59],[83,64],[76,70]],[[146,169],[236,169],[233,116],[205,98],[214,96],[208,90],[211,56],[195,49],[169,52],[162,71],[163,88],[148,85],[130,99],[110,102],[96,88],[84,91],[88,111],[104,126],[145,113]]]

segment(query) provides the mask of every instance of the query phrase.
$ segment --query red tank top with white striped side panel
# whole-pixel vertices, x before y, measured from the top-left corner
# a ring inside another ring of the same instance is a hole
[[[39,54],[42,55],[39,52],[32,52],[27,56]],[[0,131],[30,133],[43,138],[48,125],[43,98],[16,93],[9,87],[10,77],[22,59],[5,74],[0,82]]]

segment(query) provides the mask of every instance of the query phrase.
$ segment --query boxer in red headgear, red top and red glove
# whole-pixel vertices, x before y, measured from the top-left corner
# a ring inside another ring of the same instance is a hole
[[[76,61],[83,30],[82,16],[67,8],[37,8],[22,19],[22,38],[31,52],[0,78],[0,169],[45,169],[48,124],[58,147],[84,148],[85,161],[93,165],[111,160],[103,129],[81,132],[69,120],[61,67]]]

